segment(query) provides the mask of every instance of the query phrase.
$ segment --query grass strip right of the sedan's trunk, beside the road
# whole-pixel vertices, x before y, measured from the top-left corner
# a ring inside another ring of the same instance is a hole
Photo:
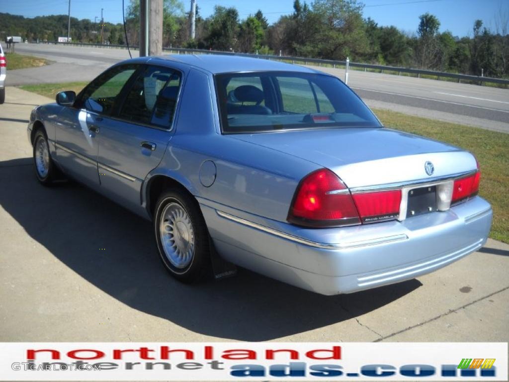
[[[385,126],[461,147],[479,161],[479,195],[493,207],[490,237],[509,243],[509,135],[455,123],[373,110]]]

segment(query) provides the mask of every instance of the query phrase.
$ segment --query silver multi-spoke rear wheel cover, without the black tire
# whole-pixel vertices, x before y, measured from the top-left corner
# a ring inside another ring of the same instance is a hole
[[[176,268],[183,269],[194,257],[194,230],[186,210],[178,203],[164,207],[159,223],[164,254]]]

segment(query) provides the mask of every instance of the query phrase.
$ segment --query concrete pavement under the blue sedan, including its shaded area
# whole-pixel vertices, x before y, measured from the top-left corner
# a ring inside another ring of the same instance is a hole
[[[0,341],[509,341],[509,245],[431,275],[321,296],[247,270],[183,285],[151,225],[73,182],[39,185],[16,88],[0,105]]]

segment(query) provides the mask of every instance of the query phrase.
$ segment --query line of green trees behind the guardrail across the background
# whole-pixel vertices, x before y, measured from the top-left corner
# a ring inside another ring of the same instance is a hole
[[[416,31],[378,25],[364,18],[359,0],[295,0],[293,12],[269,25],[263,12],[240,19],[235,7],[216,6],[209,17],[196,8],[195,39],[190,38],[190,12],[180,0],[164,0],[163,46],[279,54],[413,67],[473,75],[509,77],[509,12],[494,15],[495,28],[475,20],[470,36],[440,32],[430,13],[416,20]],[[100,25],[71,18],[73,41],[100,41]],[[105,22],[104,41],[125,44],[124,26]],[[139,1],[126,13],[129,44],[139,43]],[[67,36],[67,15],[24,18],[0,13],[0,33],[30,41],[56,41]]]

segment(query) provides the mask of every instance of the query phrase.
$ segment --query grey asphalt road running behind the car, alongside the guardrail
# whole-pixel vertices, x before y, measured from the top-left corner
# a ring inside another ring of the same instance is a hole
[[[8,85],[88,81],[129,58],[126,49],[17,44],[19,53],[54,64],[9,71]],[[137,57],[138,52],[132,51]],[[315,67],[316,68],[316,67]],[[344,79],[344,70],[319,68]],[[509,90],[433,79],[350,71],[349,85],[371,107],[509,133]]]

